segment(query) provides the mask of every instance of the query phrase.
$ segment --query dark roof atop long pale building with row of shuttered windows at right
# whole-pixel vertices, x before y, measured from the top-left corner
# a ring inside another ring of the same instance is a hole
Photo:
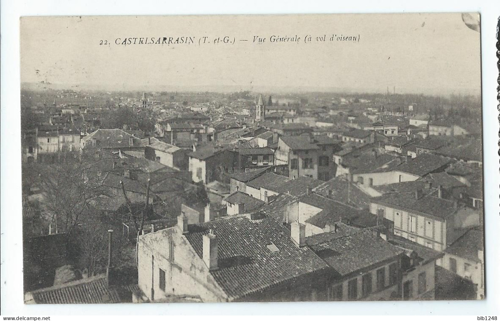
[[[414,192],[386,194],[372,198],[372,202],[393,205],[437,218],[446,218],[458,210],[454,207],[453,200],[439,198],[431,194],[416,199]]]

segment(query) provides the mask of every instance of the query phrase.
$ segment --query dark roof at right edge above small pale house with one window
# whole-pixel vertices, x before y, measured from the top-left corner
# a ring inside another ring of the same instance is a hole
[[[474,227],[460,236],[444,251],[446,253],[478,262],[479,258],[477,256],[477,251],[483,249],[483,230],[481,227]]]

